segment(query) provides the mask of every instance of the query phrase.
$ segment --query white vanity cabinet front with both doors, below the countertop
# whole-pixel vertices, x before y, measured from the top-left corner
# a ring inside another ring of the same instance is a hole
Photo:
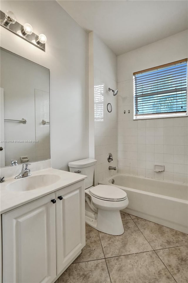
[[[2,214],[2,242],[3,283],[54,282],[85,246],[84,181]]]

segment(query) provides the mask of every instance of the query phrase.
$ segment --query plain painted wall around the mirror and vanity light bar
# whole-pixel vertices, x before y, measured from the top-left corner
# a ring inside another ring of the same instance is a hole
[[[88,34],[56,1],[1,1],[21,24],[47,37],[46,52],[1,27],[1,47],[50,69],[52,167],[87,158]]]

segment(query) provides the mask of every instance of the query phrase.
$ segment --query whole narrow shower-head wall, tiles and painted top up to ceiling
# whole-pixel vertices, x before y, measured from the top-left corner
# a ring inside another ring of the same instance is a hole
[[[93,32],[90,36],[90,52],[93,52],[94,77],[94,140],[95,184],[113,175],[117,171],[110,171],[109,166],[117,167],[117,96],[113,96],[108,88],[117,89],[116,55]],[[92,74],[91,74],[92,75]],[[91,107],[92,107],[91,102]],[[112,112],[107,111],[107,104],[112,104]],[[107,161],[108,153],[113,154],[113,162]]]

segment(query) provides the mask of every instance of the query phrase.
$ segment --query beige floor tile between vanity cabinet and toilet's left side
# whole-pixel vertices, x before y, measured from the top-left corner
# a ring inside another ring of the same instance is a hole
[[[82,253],[74,262],[85,262],[94,259],[104,259],[103,249],[100,243],[98,231],[88,224],[85,226],[86,245]]]

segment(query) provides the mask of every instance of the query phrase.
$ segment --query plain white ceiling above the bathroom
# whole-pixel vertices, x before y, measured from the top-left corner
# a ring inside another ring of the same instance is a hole
[[[116,55],[188,29],[186,0],[57,2],[86,32],[94,31]]]

